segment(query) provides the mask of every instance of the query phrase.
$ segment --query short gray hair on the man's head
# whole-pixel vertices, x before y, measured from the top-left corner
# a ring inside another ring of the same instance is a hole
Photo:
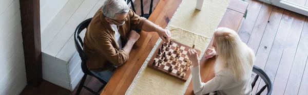
[[[105,17],[115,19],[115,15],[128,13],[129,7],[124,0],[106,0],[102,7]]]

